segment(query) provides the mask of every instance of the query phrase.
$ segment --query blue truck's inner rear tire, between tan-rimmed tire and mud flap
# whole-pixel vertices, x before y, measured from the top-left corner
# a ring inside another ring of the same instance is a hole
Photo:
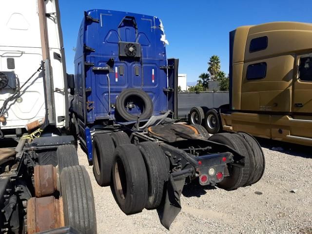
[[[148,198],[146,209],[156,209],[162,200],[164,184],[168,181],[169,161],[164,152],[155,142],[142,142],[137,144],[147,171]]]

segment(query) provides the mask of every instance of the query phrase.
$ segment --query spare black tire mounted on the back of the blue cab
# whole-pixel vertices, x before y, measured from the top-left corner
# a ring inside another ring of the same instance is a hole
[[[132,101],[135,105],[140,105],[140,109],[143,109],[140,119],[148,119],[153,114],[153,101],[140,89],[124,89],[116,100],[116,111],[120,117],[126,121],[136,121],[137,115],[132,115],[127,112],[127,101]]]

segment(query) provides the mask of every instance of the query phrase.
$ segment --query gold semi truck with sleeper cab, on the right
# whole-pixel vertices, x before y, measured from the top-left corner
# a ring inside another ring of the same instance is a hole
[[[312,146],[312,24],[272,22],[230,32],[229,105],[194,107],[209,133],[247,132]],[[195,123],[194,122],[194,123]]]

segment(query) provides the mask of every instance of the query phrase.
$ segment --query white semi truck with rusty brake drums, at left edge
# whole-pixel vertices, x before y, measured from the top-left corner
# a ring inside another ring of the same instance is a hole
[[[96,233],[69,126],[58,0],[1,1],[0,234]]]

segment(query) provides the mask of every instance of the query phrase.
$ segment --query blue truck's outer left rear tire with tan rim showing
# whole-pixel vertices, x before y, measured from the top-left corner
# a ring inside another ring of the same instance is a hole
[[[143,157],[133,144],[116,148],[111,190],[119,208],[131,215],[141,212],[148,197],[148,180]]]

